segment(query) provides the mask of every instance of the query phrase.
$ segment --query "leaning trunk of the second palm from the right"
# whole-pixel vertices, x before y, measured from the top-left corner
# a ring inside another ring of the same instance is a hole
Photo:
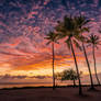
[[[90,65],[89,65],[89,60],[88,60],[88,57],[87,57],[87,52],[86,52],[83,42],[82,42],[82,48],[83,48],[83,54],[85,54],[85,57],[86,57],[86,61],[87,61],[88,69],[89,69],[89,75],[90,75],[90,80],[91,80],[91,88],[90,89],[94,89],[93,80],[92,80],[92,74],[91,74],[91,69],[90,69]]]

